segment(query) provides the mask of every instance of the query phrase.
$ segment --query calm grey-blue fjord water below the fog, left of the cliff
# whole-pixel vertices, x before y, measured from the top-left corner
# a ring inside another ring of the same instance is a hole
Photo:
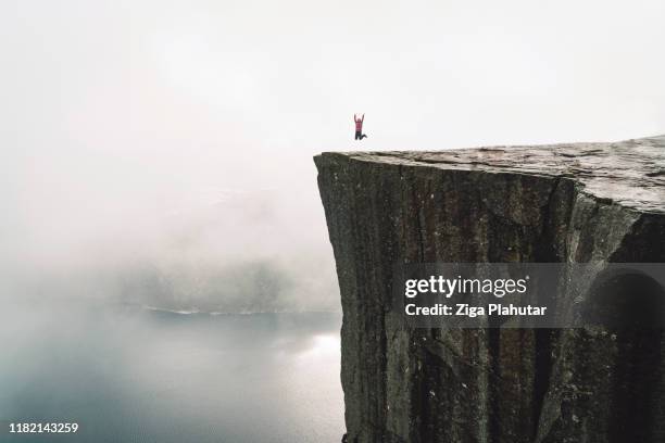
[[[341,317],[138,306],[1,315],[0,441],[339,442]],[[77,422],[10,435],[10,421]]]

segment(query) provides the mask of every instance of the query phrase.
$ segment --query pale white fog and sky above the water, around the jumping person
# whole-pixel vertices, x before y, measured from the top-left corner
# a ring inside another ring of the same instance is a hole
[[[0,296],[337,309],[312,155],[665,132],[664,14],[5,0]]]

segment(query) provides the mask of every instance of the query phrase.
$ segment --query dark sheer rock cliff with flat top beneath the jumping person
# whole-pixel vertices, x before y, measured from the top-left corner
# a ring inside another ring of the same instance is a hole
[[[410,329],[396,263],[665,262],[665,137],[324,153],[349,442],[663,441],[660,331]]]

